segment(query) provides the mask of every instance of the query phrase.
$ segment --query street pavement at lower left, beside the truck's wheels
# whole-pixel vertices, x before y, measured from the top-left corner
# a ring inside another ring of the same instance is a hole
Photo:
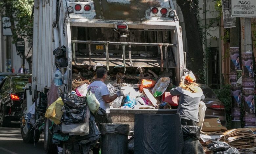
[[[44,154],[44,138],[41,135],[36,144],[22,141],[19,122],[12,122],[11,127],[0,127],[0,154]]]

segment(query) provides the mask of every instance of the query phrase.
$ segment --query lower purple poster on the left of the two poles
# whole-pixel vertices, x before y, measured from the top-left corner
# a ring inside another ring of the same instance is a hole
[[[232,109],[231,109],[231,118],[232,121],[240,121],[241,115],[241,100],[242,100],[242,91],[240,88],[231,88],[231,96],[232,96]]]

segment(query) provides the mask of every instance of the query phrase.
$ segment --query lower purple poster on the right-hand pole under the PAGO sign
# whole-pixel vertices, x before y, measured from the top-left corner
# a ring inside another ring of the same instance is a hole
[[[256,127],[254,89],[243,89],[245,127]]]

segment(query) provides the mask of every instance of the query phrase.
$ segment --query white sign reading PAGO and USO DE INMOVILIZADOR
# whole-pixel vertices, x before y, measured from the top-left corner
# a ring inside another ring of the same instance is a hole
[[[256,0],[232,0],[231,16],[242,18],[256,17]]]

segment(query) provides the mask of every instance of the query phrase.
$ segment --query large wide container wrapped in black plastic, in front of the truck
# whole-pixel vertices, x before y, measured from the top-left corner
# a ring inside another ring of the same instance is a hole
[[[179,114],[135,114],[134,153],[180,154],[183,144]]]

